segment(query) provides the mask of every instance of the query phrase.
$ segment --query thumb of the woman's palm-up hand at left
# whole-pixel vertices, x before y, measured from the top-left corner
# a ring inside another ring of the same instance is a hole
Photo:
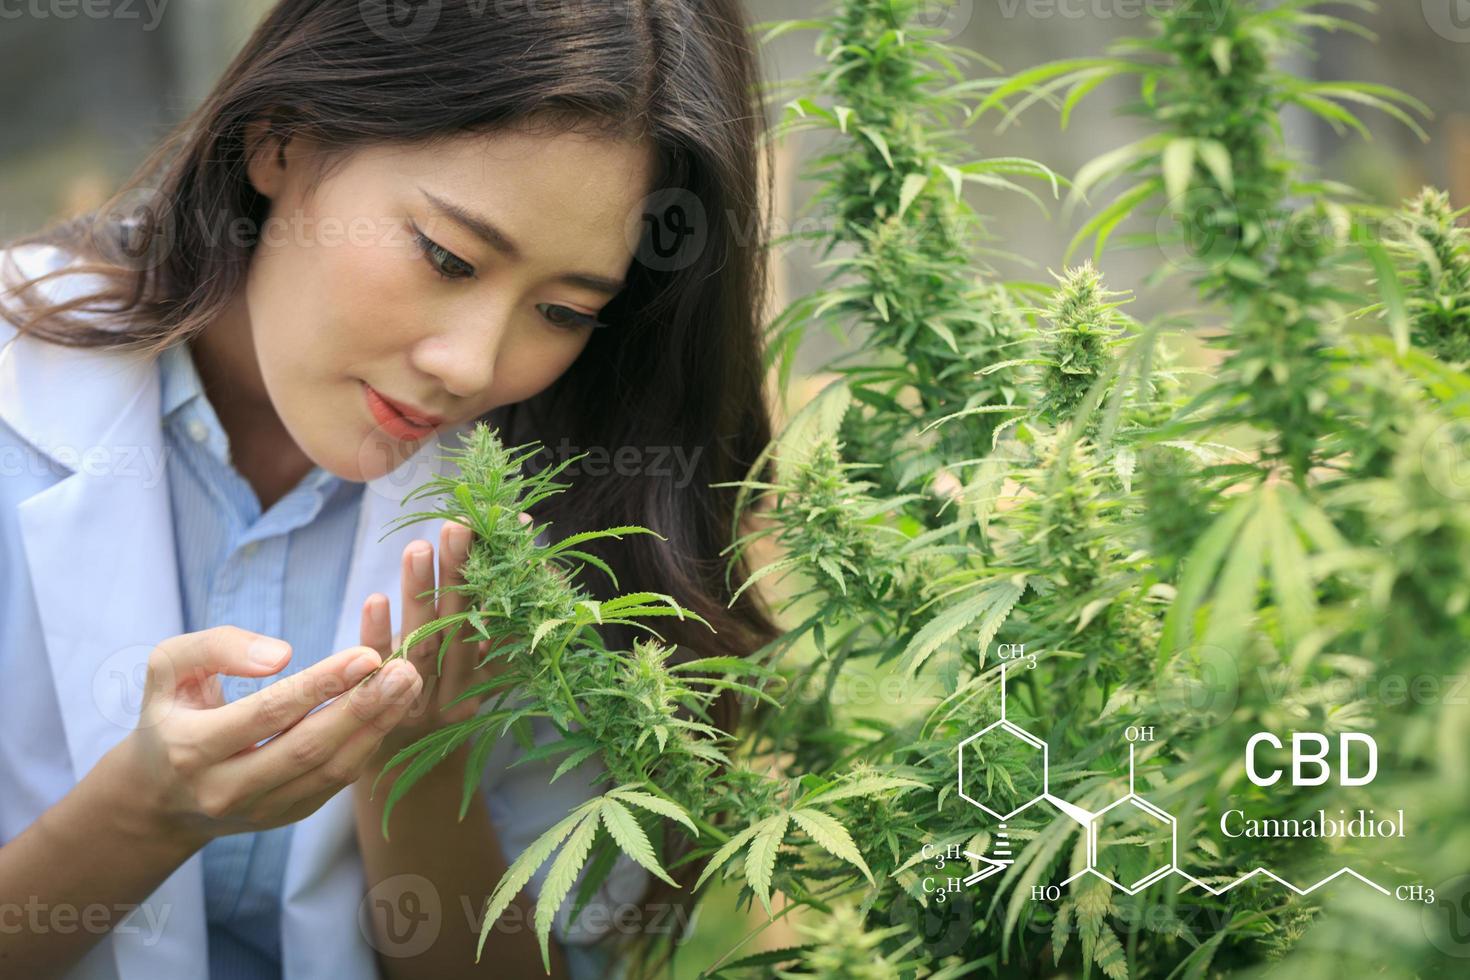
[[[213,674],[260,677],[281,670],[291,655],[282,639],[238,626],[215,626],[171,636],[148,655],[144,701],[157,699],[165,707],[187,704],[210,707],[207,680]],[[218,685],[218,682],[216,682]]]

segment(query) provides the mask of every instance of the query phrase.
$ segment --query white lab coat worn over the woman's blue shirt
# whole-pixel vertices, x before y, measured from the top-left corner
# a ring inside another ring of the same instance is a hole
[[[28,273],[68,259],[44,245],[10,254]],[[81,281],[65,276],[43,288],[69,295]],[[154,360],[49,344],[0,319],[0,846],[135,727],[150,651],[184,632],[159,406]],[[394,517],[423,507],[422,498],[407,507],[401,500],[447,472],[451,464],[438,457],[444,447],[459,447],[459,432],[428,441],[365,488],[332,649],[359,642],[362,602],[372,592],[388,595],[392,621],[401,620],[403,548],[415,538],[437,542],[438,522],[379,538]],[[507,771],[517,752],[504,739],[481,785],[509,857],[594,792],[589,771],[550,786],[547,765]],[[604,901],[637,901],[644,880],[622,860]],[[359,926],[363,895],[351,792],[344,789],[293,832],[281,912],[285,980],[379,976]],[[25,901],[0,896],[0,904]],[[564,920],[567,908],[562,912]],[[463,915],[460,901],[445,898],[442,914]],[[0,924],[13,926],[15,911],[10,918]],[[76,927],[82,920],[56,921]],[[494,942],[492,934],[487,956]],[[204,880],[194,854],[66,977],[207,974]]]

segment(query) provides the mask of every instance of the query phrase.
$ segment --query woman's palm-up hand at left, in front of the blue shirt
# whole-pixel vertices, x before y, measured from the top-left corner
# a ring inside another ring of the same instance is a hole
[[[301,820],[357,782],[419,693],[404,664],[354,688],[382,658],[351,646],[225,704],[218,674],[263,677],[290,655],[284,641],[235,626],[184,633],[153,649],[138,726],[123,749],[129,782],[162,830],[203,846]],[[257,745],[263,739],[270,741]]]

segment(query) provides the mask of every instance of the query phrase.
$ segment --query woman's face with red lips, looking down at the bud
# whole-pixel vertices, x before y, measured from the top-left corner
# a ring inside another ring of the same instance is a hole
[[[645,143],[510,131],[365,148],[309,188],[312,145],[293,140],[284,163],[276,147],[250,165],[270,216],[237,304],[253,357],[240,351],[232,385],[351,480],[576,360],[632,262],[654,167]]]

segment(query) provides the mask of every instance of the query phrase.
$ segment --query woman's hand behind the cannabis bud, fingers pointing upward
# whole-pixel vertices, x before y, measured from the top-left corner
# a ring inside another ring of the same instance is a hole
[[[529,523],[531,516],[522,513],[520,522]],[[388,597],[375,592],[363,604],[362,644],[376,649],[387,660],[403,636],[410,636],[413,630],[435,619],[463,613],[469,605],[465,594],[451,589],[465,583],[460,569],[469,557],[472,538],[473,532],[469,527],[453,520],[445,520],[440,527],[438,601],[434,586],[434,545],[423,539],[410,542],[403,550],[401,630],[394,632],[390,623]],[[369,760],[368,774],[373,779],[398,751],[447,724],[473,717],[485,699],[484,695],[466,698],[453,707],[445,705],[469,688],[490,680],[500,670],[498,661],[475,667],[488,652],[490,641],[476,641],[473,630],[466,624],[447,629],[456,636],[444,651],[442,673],[438,673],[438,655],[444,630],[431,633],[406,652],[404,660],[413,664],[423,679],[423,689]]]

